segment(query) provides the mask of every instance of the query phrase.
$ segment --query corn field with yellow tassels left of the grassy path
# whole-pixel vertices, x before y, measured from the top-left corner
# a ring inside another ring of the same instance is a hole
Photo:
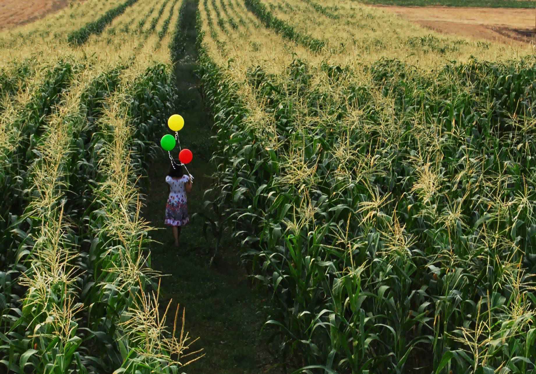
[[[183,4],[87,0],[0,34],[2,372],[179,373],[200,356],[184,310],[159,309],[139,215]]]

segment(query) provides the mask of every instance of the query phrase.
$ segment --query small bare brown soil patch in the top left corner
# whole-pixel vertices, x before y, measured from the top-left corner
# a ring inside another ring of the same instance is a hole
[[[69,0],[0,0],[0,30],[25,25],[69,5]]]

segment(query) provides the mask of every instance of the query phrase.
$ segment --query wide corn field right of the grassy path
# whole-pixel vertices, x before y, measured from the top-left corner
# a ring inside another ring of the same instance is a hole
[[[199,0],[197,32],[206,206],[286,368],[536,372],[533,46],[350,0]]]

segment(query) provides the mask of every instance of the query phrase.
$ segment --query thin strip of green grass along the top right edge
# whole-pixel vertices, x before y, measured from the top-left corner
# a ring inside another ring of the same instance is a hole
[[[517,0],[361,0],[373,5],[398,6],[471,6],[480,8],[534,8],[533,1]]]

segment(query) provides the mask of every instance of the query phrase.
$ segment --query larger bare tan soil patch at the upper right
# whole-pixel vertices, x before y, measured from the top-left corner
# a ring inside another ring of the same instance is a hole
[[[377,5],[437,32],[502,43],[534,42],[534,9]]]

